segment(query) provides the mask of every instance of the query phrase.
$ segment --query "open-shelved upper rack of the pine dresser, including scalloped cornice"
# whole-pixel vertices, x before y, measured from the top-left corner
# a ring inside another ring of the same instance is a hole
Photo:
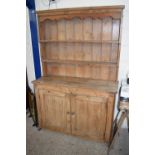
[[[123,8],[38,11],[43,75],[117,81]]]

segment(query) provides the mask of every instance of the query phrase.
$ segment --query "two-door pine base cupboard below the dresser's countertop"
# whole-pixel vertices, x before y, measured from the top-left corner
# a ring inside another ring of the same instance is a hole
[[[115,93],[70,83],[35,84],[39,127],[109,142]]]

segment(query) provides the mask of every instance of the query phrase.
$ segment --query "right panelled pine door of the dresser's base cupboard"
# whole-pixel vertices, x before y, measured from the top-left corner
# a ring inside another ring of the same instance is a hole
[[[72,134],[104,140],[107,97],[71,96]]]

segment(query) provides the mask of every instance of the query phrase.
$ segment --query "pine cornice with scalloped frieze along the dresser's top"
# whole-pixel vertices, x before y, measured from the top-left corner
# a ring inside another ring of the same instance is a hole
[[[104,18],[112,17],[121,18],[123,5],[119,6],[100,6],[100,7],[82,7],[82,8],[65,8],[37,11],[40,22],[44,20],[60,20],[72,18]]]

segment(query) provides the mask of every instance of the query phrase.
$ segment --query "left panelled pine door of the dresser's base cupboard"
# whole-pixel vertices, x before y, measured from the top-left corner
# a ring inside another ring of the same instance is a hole
[[[70,98],[68,94],[39,90],[39,96],[41,114],[39,126],[70,133]]]

